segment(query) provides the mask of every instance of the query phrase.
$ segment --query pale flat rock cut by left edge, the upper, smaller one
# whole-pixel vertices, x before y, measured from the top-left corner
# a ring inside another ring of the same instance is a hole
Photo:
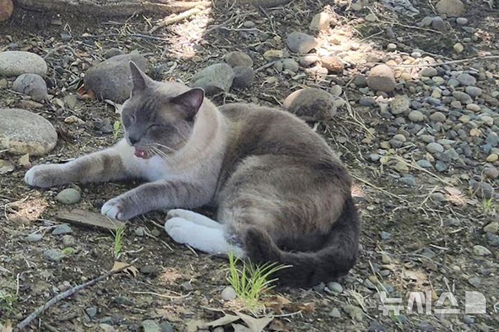
[[[19,76],[32,73],[46,75],[46,62],[40,55],[23,50],[0,52],[0,76]]]

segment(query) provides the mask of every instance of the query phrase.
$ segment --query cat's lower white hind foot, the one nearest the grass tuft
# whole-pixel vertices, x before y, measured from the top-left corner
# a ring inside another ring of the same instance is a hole
[[[192,248],[213,255],[232,252],[236,257],[244,257],[242,248],[227,241],[225,228],[199,225],[179,216],[168,219],[164,228],[177,243],[188,244]]]

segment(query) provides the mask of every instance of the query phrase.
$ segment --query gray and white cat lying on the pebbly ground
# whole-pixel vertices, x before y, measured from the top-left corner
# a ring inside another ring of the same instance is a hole
[[[127,220],[171,209],[164,228],[177,243],[290,265],[277,273],[289,286],[348,273],[360,219],[349,172],[319,134],[286,111],[216,107],[202,89],[154,81],[133,62],[130,70],[125,138],[69,163],[32,167],[28,185],[142,178],[148,182],[107,201],[102,214]],[[217,221],[182,210],[209,204]]]

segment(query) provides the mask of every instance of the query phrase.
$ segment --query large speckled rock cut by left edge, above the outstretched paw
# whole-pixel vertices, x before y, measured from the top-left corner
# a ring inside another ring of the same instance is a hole
[[[24,109],[0,109],[0,149],[11,154],[48,154],[57,143],[52,124]]]

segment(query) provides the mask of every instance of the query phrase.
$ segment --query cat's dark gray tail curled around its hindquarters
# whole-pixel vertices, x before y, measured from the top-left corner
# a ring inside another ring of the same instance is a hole
[[[360,221],[353,199],[344,202],[323,248],[315,252],[287,252],[277,247],[267,232],[249,228],[245,237],[247,257],[255,263],[276,262],[289,265],[272,277],[286,286],[315,286],[346,275],[358,255]]]

